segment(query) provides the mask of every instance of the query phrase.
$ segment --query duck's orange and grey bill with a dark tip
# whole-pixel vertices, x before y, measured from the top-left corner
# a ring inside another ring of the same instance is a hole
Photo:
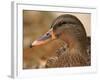
[[[44,35],[39,37],[37,40],[33,41],[32,44],[30,45],[30,48],[34,46],[39,46],[48,43],[51,40],[56,39],[53,29],[51,28],[48,32],[46,32]]]

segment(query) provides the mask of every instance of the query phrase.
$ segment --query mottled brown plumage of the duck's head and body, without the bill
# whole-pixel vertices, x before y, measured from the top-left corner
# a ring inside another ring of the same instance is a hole
[[[91,56],[88,52],[90,48],[87,48],[87,36],[83,24],[75,16],[61,15],[53,22],[52,27],[55,35],[64,40],[68,44],[68,47],[66,49],[58,49],[57,53],[59,55],[53,56],[53,59],[50,57],[47,60],[46,67],[89,66],[91,64]],[[70,46],[67,38],[60,37],[62,34],[64,35],[63,37],[70,35],[73,39],[72,41],[76,42],[75,45],[78,44],[77,47]]]

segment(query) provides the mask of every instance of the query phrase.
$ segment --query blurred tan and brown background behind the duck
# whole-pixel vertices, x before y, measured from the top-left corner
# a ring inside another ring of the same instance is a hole
[[[23,10],[23,69],[44,68],[47,59],[63,45],[61,40],[54,40],[29,48],[31,42],[47,32],[53,20],[62,14],[76,16],[83,23],[87,35],[91,36],[91,14]]]

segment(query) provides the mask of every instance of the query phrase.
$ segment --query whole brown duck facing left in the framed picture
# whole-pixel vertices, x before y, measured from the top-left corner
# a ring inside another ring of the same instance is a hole
[[[45,45],[57,39],[63,41],[67,47],[62,48],[63,52],[60,52],[59,56],[48,59],[46,68],[91,65],[91,56],[87,52],[86,30],[76,16],[71,14],[58,16],[52,22],[50,29],[30,44],[30,48]]]

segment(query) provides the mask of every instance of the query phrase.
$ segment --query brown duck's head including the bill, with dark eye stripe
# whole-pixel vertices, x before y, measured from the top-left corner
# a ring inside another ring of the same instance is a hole
[[[86,32],[81,21],[70,14],[64,14],[57,17],[48,32],[32,42],[30,47],[43,45],[55,39],[61,39],[69,47],[84,45],[86,41]]]

